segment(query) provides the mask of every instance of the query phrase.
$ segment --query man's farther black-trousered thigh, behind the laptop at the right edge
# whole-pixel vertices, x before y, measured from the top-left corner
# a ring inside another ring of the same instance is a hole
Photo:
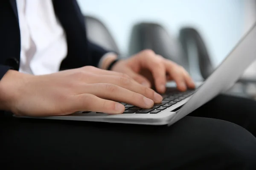
[[[189,116],[207,117],[233,122],[256,136],[256,101],[237,96],[219,95]]]

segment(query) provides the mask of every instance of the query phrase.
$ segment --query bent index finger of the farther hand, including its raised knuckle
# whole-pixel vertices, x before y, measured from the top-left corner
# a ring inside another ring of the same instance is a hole
[[[141,57],[141,59],[144,59],[142,62],[143,67],[151,71],[157,91],[164,93],[166,91],[166,68],[163,64],[163,59],[155,54],[151,54],[151,52],[144,55],[148,56]]]

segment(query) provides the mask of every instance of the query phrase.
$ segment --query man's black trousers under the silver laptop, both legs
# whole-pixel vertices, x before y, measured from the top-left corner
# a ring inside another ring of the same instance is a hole
[[[256,170],[255,136],[256,102],[224,95],[170,127],[2,116],[0,169]]]

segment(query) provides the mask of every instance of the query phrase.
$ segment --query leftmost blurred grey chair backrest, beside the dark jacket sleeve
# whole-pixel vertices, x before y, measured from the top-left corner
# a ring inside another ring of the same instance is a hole
[[[117,47],[113,36],[99,19],[92,16],[84,16],[84,20],[87,37],[91,42],[94,42],[110,51],[116,51],[119,53],[119,48]]]

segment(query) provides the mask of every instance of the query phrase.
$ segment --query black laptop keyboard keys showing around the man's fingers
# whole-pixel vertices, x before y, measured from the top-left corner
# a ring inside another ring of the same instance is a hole
[[[163,101],[161,103],[154,104],[154,106],[150,109],[142,109],[138,108],[134,105],[128,105],[126,103],[120,102],[122,105],[125,106],[125,114],[157,114],[165,109],[175,105],[177,102],[180,102],[183,99],[191,96],[195,93],[195,89],[187,90],[185,92],[180,92],[176,88],[166,88],[166,93],[163,94]],[[82,113],[90,113],[89,111],[84,111]],[[100,112],[97,112],[100,113]]]

